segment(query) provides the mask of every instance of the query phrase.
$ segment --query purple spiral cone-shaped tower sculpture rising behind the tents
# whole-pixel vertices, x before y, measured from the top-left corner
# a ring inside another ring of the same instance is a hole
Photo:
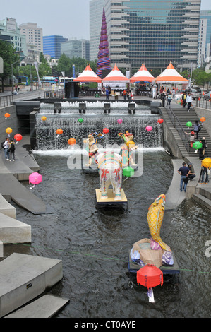
[[[107,21],[104,13],[102,13],[102,28],[100,34],[100,45],[99,52],[97,54],[97,71],[96,74],[102,78],[102,70],[110,69],[111,70],[111,60],[109,58],[109,42],[107,35]]]

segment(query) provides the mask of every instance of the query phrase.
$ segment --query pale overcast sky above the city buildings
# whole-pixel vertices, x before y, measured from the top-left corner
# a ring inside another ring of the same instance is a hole
[[[157,0],[159,1],[159,0]],[[37,23],[43,35],[90,39],[90,0],[0,0],[0,20],[16,18]],[[210,0],[201,0],[201,9],[211,10]]]

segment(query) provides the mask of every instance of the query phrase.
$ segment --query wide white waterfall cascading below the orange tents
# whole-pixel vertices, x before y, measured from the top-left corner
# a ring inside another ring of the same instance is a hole
[[[108,128],[109,133],[99,142],[101,145],[121,144],[123,140],[117,134],[129,131],[134,135],[135,143],[143,144],[144,148],[162,147],[162,124],[157,123],[160,116],[151,114],[149,107],[140,109],[140,112],[135,109],[135,114],[128,114],[127,103],[119,102],[123,105],[118,108],[112,103],[111,113],[102,114],[100,107],[103,106],[100,103],[100,106],[90,105],[90,113],[79,114],[76,103],[71,106],[69,104],[62,102],[60,114],[54,114],[54,104],[41,105],[35,126],[37,150],[67,149],[69,138],[75,138],[77,145],[82,147],[83,140],[88,138],[89,134],[102,133],[104,128]],[[94,112],[95,110],[97,112]],[[41,119],[43,115],[47,118],[45,121]],[[82,123],[78,121],[80,118],[83,119]],[[121,124],[117,122],[118,119],[122,120]],[[146,126],[152,126],[152,131],[146,131]],[[63,130],[63,134],[58,136],[56,129],[59,128]]]

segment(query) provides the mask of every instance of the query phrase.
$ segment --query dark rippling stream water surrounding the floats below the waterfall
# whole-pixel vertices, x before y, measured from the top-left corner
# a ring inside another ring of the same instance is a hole
[[[34,193],[56,213],[32,215],[16,207],[17,219],[32,226],[32,244],[5,246],[4,254],[16,251],[62,260],[64,278],[50,292],[70,302],[57,317],[210,316],[211,258],[205,256],[210,213],[193,201],[166,211],[161,229],[181,268],[179,280],[165,277],[164,285],[154,288],[151,304],[147,289],[128,273],[128,249],[150,237],[147,210],[171,183],[171,157],[164,150],[145,151],[143,176],[123,182],[128,211],[98,210],[98,176],[69,170],[67,156],[54,151],[35,158],[42,183]]]

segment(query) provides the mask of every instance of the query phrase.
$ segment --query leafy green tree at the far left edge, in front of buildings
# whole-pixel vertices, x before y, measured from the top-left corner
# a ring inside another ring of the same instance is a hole
[[[16,53],[15,47],[10,42],[0,40],[0,57],[4,61],[4,73],[0,74],[1,90],[4,92],[4,81],[11,76],[12,64],[13,68],[18,66],[20,55]]]

